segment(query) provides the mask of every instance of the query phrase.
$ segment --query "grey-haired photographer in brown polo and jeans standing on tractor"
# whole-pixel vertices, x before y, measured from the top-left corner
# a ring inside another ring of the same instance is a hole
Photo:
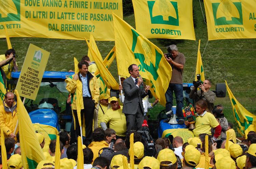
[[[166,112],[169,112],[173,106],[173,92],[175,94],[177,109],[176,115],[179,118],[178,124],[182,125],[184,123],[184,117],[182,113],[183,107],[183,82],[182,74],[185,65],[185,56],[178,52],[176,45],[172,44],[167,48],[168,53],[166,53],[165,59],[169,62],[172,67],[172,77],[165,93],[166,97]]]

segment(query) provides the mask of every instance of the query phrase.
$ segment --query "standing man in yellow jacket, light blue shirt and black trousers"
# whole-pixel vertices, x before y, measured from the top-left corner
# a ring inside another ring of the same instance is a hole
[[[75,116],[75,126],[76,134],[80,134],[79,121],[76,111],[76,84],[77,80],[82,82],[82,95],[83,100],[80,100],[81,105],[81,123],[83,124],[83,116],[85,117],[85,142],[84,144],[88,146],[91,143],[92,133],[93,133],[93,115],[95,104],[98,103],[99,99],[99,86],[97,78],[94,74],[88,72],[88,63],[81,61],[78,63],[79,73],[74,74],[66,79],[67,86],[66,89],[71,93],[72,109]]]

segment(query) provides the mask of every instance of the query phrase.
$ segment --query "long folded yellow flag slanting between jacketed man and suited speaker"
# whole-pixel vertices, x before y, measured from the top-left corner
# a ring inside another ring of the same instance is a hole
[[[102,80],[104,81],[106,87],[108,87],[109,89],[112,88],[114,90],[118,90],[119,89],[118,83],[116,82],[112,74],[105,67],[105,65],[103,64],[103,61],[99,58],[99,56],[96,55],[96,53],[94,52],[93,48],[91,47],[91,45],[87,40],[86,40],[86,43],[88,45],[89,50],[91,51],[91,54],[100,72],[100,76],[102,77]]]

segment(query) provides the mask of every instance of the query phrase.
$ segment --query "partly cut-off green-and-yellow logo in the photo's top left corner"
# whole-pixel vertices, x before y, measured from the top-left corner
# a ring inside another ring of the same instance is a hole
[[[0,0],[0,22],[20,21],[20,0]]]

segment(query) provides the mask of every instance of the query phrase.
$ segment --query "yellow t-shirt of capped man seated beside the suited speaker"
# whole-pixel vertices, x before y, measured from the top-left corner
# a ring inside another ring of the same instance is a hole
[[[116,131],[116,135],[120,137],[125,137],[126,132],[126,118],[125,114],[122,113],[123,106],[120,106],[120,109],[113,110],[110,108],[103,116],[101,122],[106,124],[109,123],[109,128]]]

